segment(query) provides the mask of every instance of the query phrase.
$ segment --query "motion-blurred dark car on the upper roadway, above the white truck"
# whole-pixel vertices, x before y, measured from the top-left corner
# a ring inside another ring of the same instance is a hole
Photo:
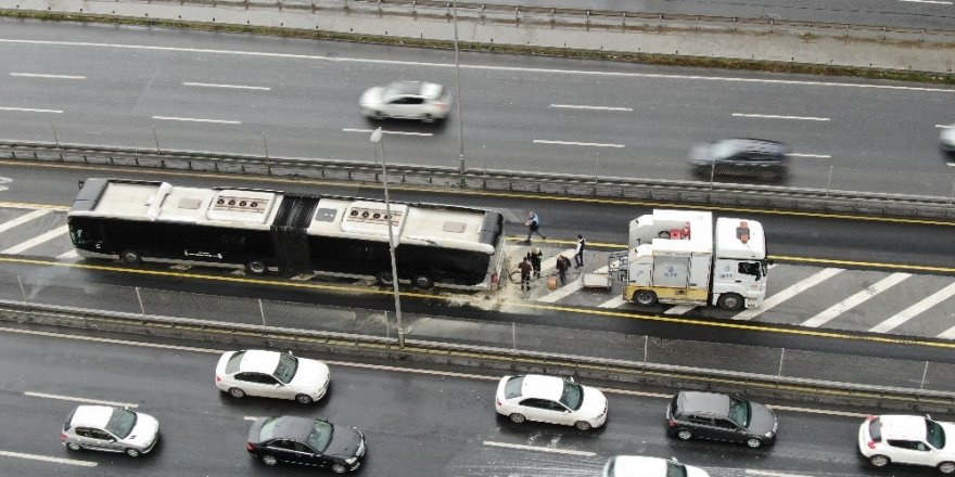
[[[705,180],[711,176],[743,176],[784,181],[789,173],[789,146],[765,139],[724,139],[695,146],[690,167],[693,175]]]

